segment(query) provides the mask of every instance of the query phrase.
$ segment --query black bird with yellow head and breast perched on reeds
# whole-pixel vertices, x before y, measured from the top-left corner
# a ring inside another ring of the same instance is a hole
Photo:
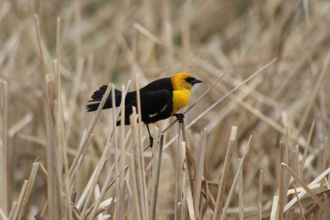
[[[153,137],[151,136],[148,124],[170,118],[170,116],[177,117],[179,123],[183,123],[184,115],[182,113],[177,113],[177,111],[186,107],[190,101],[190,89],[197,83],[203,83],[203,81],[188,73],[177,73],[169,78],[155,80],[140,89],[141,119],[148,129],[151,147],[153,146]],[[98,109],[107,87],[107,85],[103,85],[100,89],[94,91],[91,100],[88,102],[95,103],[87,104],[87,111],[96,111]],[[122,91],[115,89],[115,107],[120,106],[121,100]],[[133,112],[132,107],[136,107],[137,105],[136,91],[131,91],[126,94],[124,104],[126,113],[124,124],[129,125],[131,124],[129,115]],[[112,98],[108,96],[103,109],[111,108]],[[116,126],[119,125],[120,120],[117,121]]]

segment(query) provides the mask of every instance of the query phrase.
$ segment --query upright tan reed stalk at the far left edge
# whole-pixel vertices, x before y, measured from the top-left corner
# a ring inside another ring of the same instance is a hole
[[[1,83],[1,143],[0,143],[0,207],[3,208],[5,214],[8,213],[10,192],[8,184],[10,177],[8,171],[8,83],[0,80]]]

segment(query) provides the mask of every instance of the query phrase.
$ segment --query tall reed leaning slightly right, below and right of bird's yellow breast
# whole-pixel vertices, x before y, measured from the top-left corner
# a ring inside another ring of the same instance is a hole
[[[197,169],[195,177],[195,190],[194,190],[194,208],[195,217],[199,219],[200,196],[201,196],[201,179],[203,178],[204,157],[206,152],[206,140],[208,137],[208,129],[204,128],[201,134],[201,142],[199,145],[199,158],[197,160]],[[181,197],[181,194],[179,195]]]

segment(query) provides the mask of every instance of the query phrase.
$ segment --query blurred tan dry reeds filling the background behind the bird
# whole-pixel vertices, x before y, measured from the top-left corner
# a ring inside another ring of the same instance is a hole
[[[321,0],[1,1],[0,77],[8,82],[10,204],[17,201],[37,157],[41,164],[47,164],[45,98],[34,14],[39,17],[46,72],[53,83],[53,61],[61,61],[69,164],[93,116],[85,111],[85,105],[100,86],[115,83],[121,90],[122,84],[132,80],[129,91],[134,91],[135,73],[139,74],[142,87],[158,78],[189,72],[204,81],[192,89],[192,104],[233,64],[219,84],[187,113],[185,122],[189,124],[228,91],[277,58],[188,130],[188,144],[196,158],[200,133],[203,127],[208,128],[207,175],[208,180],[219,183],[230,129],[238,127],[225,195],[238,168],[237,158],[242,157],[248,138],[253,136],[243,167],[248,213],[256,212],[259,169],[264,170],[263,210],[269,210],[272,198],[278,195],[279,142],[285,141],[286,126],[289,152],[300,144],[301,157],[311,124],[316,120],[303,179],[309,184],[321,173],[330,126],[329,10],[330,1]],[[57,44],[61,46],[56,50],[58,17],[61,34]],[[111,115],[111,110],[103,111],[96,124],[94,140],[75,186],[77,198],[107,142],[113,126]],[[151,130],[155,125],[162,131],[174,119],[157,122]],[[4,126],[1,132],[3,129]],[[165,144],[176,134],[177,124],[166,132]],[[144,135],[145,146],[148,144],[145,126]],[[175,141],[164,151],[158,219],[173,219],[176,147]],[[150,155],[151,151],[146,151],[146,162]],[[107,163],[100,186],[111,164]],[[46,186],[38,173],[26,219],[43,209]],[[210,190],[216,197],[217,188]],[[232,198],[228,219],[238,217],[237,193],[238,190]],[[109,192],[107,197],[111,195]]]

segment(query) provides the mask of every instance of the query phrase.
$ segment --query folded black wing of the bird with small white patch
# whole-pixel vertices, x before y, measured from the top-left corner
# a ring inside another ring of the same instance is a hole
[[[132,106],[136,107],[136,100],[126,104],[125,124],[130,124],[129,115],[132,113]],[[160,89],[158,91],[142,92],[141,113],[142,121],[145,124],[157,122],[169,118],[173,111],[173,91]],[[117,123],[118,125],[120,122]]]

